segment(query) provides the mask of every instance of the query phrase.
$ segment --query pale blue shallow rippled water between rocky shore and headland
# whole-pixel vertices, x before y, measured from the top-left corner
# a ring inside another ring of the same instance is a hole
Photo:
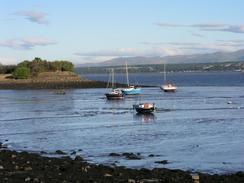
[[[227,76],[221,73],[214,83],[224,85],[213,86],[206,86],[207,81],[203,86],[185,86],[186,81],[181,86],[175,80],[176,93],[149,87],[123,101],[107,101],[104,93],[109,89],[71,89],[65,95],[53,90],[0,90],[0,142],[20,151],[75,150],[93,163],[133,168],[244,171],[244,76]],[[222,82],[223,77],[240,78]],[[150,83],[154,82],[153,76]],[[138,115],[132,105],[139,102],[154,102],[157,111]],[[109,156],[124,152],[140,153],[142,159]],[[155,163],[161,160],[169,163]]]

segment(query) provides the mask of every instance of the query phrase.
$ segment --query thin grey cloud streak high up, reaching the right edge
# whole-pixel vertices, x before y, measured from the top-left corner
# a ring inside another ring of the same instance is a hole
[[[232,32],[232,33],[244,33],[244,24],[231,25],[231,24],[221,24],[221,23],[205,23],[205,24],[173,24],[173,23],[155,23],[155,25],[160,27],[190,27],[199,28],[201,31],[222,31],[222,32]]]

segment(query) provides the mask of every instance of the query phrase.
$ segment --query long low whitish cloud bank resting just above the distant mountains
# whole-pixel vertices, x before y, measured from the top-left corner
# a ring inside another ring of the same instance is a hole
[[[214,42],[149,42],[143,41],[141,49],[118,48],[111,50],[98,50],[92,52],[76,52],[84,62],[101,62],[116,57],[155,57],[173,55],[191,55],[202,53],[213,53],[220,51],[236,51],[244,49],[244,40],[217,40]]]

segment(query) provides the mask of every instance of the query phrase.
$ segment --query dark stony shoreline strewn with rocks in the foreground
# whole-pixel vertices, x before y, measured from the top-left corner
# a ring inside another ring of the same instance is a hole
[[[56,151],[62,154],[62,151]],[[64,155],[64,154],[63,154]],[[209,175],[199,173],[200,182],[244,182],[244,173]],[[44,157],[28,152],[0,150],[0,182],[165,182],[191,183],[191,172],[165,168],[130,169],[121,166],[91,164],[82,157]]]

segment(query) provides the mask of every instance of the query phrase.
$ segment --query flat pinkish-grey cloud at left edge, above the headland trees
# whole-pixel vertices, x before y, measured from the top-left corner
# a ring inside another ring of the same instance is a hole
[[[56,41],[41,38],[41,37],[29,37],[23,39],[9,39],[5,41],[0,41],[0,46],[9,47],[12,49],[29,50],[36,46],[49,46],[57,44]]]

